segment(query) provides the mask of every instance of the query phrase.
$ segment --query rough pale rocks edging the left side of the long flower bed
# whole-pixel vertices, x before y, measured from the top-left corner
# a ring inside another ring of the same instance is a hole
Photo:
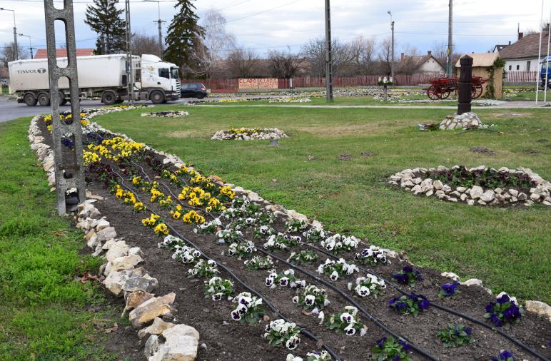
[[[54,152],[44,143],[44,137],[36,125],[39,116],[32,119],[29,126],[31,149],[36,152],[48,174],[49,185],[55,185]],[[55,190],[55,188],[54,188]],[[149,361],[195,360],[199,345],[198,331],[188,325],[175,325],[166,320],[175,320],[178,312],[173,307],[176,293],[156,297],[153,291],[158,288],[158,280],[148,275],[138,264],[143,261],[139,247],[131,248],[122,238],[117,238],[113,228],[93,203],[103,200],[86,190],[86,198],[77,206],[76,228],[84,233],[86,245],[93,250],[92,255],[101,256],[106,263],[101,265],[100,274],[105,278],[103,286],[115,297],[124,297],[123,315],[128,319],[140,339],[147,338],[143,354]],[[105,254],[102,253],[105,251]],[[151,325],[150,325],[151,324]],[[163,339],[159,338],[162,335]]]

